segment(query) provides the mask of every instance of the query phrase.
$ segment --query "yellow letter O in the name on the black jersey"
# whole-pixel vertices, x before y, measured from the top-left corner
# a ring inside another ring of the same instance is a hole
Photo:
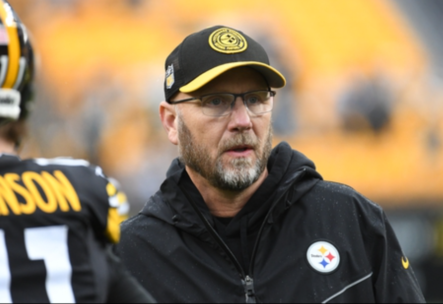
[[[55,195],[41,175],[36,172],[28,171],[23,173],[21,178],[23,180],[23,184],[34,197],[35,203],[39,209],[46,213],[53,213],[55,210],[57,210],[57,200],[55,199]],[[36,185],[40,186],[47,201],[45,201],[41,196]]]

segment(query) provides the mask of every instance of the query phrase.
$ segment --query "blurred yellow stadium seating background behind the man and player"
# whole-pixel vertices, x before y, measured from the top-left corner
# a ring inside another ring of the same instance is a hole
[[[275,141],[381,204],[443,301],[443,1],[9,1],[38,56],[23,157],[96,163],[137,213],[177,156],[158,118],[166,56],[201,28],[238,28],[288,80]]]

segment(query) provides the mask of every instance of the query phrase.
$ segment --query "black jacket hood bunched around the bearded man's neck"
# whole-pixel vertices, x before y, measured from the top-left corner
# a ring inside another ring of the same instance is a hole
[[[271,209],[275,209],[277,213],[284,212],[289,206],[288,200],[283,200],[283,196],[290,192],[292,196],[290,201],[295,202],[322,179],[316,172],[314,163],[302,153],[293,150],[287,142],[278,144],[272,150],[268,171],[268,177],[234,217],[234,223],[236,218],[248,214],[249,224],[258,225]],[[293,185],[294,191],[289,191]],[[195,202],[201,213],[213,225],[212,215],[203,198],[187,175],[185,166],[176,158],[172,161],[160,190],[148,200],[140,213],[158,218],[193,234],[204,234],[202,220],[189,200]],[[231,226],[236,230],[238,225]]]

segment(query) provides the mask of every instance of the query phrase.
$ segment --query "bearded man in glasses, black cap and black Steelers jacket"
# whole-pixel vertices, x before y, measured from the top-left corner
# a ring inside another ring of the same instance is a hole
[[[382,208],[323,181],[271,118],[284,76],[243,32],[186,37],[165,63],[163,126],[180,157],[118,252],[162,303],[423,303]]]

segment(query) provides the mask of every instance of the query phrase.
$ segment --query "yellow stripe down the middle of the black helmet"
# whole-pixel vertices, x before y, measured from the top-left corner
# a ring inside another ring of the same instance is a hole
[[[2,3],[1,1],[0,3]],[[7,34],[9,36],[8,54],[9,66],[6,72],[6,79],[3,88],[12,88],[15,84],[18,74],[19,59],[20,59],[20,42],[18,40],[17,24],[12,19],[12,14],[8,11],[8,5],[2,3],[0,5],[0,18],[3,22]]]

